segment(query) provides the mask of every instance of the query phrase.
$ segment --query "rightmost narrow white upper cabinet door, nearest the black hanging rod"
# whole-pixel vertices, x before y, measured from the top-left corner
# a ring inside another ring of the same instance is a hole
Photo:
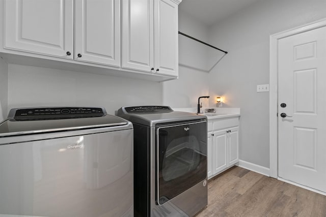
[[[178,5],[154,1],[155,71],[178,76]]]

